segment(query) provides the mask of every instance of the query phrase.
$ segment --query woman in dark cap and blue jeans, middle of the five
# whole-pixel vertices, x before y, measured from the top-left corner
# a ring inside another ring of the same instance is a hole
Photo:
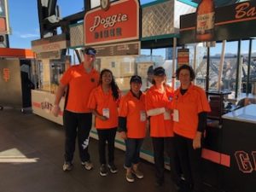
[[[131,90],[122,97],[119,107],[119,132],[125,140],[126,180],[134,182],[133,174],[143,178],[143,172],[138,169],[140,149],[146,136],[145,94],[141,91],[140,76],[131,77]]]

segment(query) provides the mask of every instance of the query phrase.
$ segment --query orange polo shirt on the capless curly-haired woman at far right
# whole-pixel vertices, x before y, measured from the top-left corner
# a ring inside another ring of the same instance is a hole
[[[173,122],[173,131],[190,139],[195,138],[198,113],[211,111],[205,91],[194,84],[189,86],[184,95],[180,89],[175,90],[172,108],[178,111],[178,122]]]

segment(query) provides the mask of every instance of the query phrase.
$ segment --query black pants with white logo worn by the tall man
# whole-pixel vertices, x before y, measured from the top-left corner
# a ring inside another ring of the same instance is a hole
[[[63,114],[63,124],[66,133],[65,140],[65,161],[73,161],[76,137],[79,138],[79,155],[82,162],[90,160],[88,152],[89,134],[91,129],[91,113],[73,113],[65,110]]]

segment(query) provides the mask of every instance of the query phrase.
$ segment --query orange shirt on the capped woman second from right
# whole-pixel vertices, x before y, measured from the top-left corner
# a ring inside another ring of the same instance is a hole
[[[146,93],[146,110],[154,108],[168,108],[172,102],[172,88],[166,86],[166,92],[161,93],[153,85]],[[173,137],[172,119],[164,119],[164,114],[150,117],[150,136],[151,137]]]

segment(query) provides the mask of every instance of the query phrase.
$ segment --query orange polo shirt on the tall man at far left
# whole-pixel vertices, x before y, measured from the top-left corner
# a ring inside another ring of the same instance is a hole
[[[67,110],[75,113],[90,113],[87,103],[90,91],[99,82],[99,73],[92,69],[86,73],[83,63],[67,69],[61,78],[61,84],[69,85]]]

